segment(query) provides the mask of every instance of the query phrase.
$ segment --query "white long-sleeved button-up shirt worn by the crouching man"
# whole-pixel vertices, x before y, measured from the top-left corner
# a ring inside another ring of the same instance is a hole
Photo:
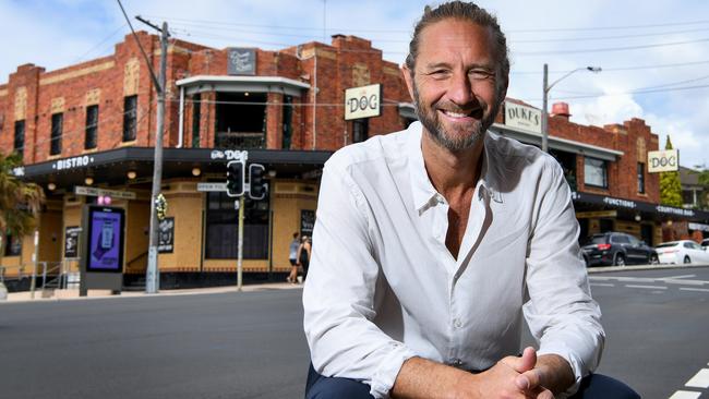
[[[414,355],[469,371],[517,355],[524,313],[538,353],[566,359],[578,384],[604,332],[561,167],[488,132],[456,259],[421,134],[414,122],[325,165],[303,292],[313,366],[387,397]]]

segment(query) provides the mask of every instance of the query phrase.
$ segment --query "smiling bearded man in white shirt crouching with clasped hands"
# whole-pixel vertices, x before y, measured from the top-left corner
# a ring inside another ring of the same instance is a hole
[[[508,72],[494,16],[426,8],[402,68],[421,123],[327,161],[307,397],[636,397],[603,376],[581,384],[604,334],[569,189],[553,158],[486,132]],[[517,356],[522,313],[539,350]]]

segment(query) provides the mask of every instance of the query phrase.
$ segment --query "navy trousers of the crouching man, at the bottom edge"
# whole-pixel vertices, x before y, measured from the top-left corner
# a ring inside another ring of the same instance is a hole
[[[370,386],[354,379],[323,377],[310,365],[305,399],[371,399]],[[581,380],[572,399],[639,399],[640,396],[617,379],[591,374]]]

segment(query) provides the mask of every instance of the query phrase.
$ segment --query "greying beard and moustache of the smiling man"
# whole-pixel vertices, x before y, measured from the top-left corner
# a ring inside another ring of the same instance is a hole
[[[434,108],[435,106],[436,105],[434,105]],[[489,113],[484,113],[485,107],[484,105],[481,106],[481,112],[483,112],[482,118],[473,123],[469,132],[452,134],[452,132],[448,132],[440,120],[436,110],[421,104],[419,90],[417,89],[416,83],[413,84],[413,107],[419,116],[419,121],[438,145],[450,152],[460,152],[471,148],[484,137],[485,131],[495,121],[495,116],[500,110],[500,101],[493,104]],[[459,107],[457,106],[445,108],[448,110],[453,110],[449,108],[456,108],[453,111],[459,111]]]

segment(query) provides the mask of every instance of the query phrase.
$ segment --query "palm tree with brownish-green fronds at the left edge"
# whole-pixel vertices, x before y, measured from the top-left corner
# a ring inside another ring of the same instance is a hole
[[[35,229],[45,202],[39,185],[14,176],[13,170],[21,166],[20,155],[0,153],[0,256],[4,254],[8,234],[24,237]]]

